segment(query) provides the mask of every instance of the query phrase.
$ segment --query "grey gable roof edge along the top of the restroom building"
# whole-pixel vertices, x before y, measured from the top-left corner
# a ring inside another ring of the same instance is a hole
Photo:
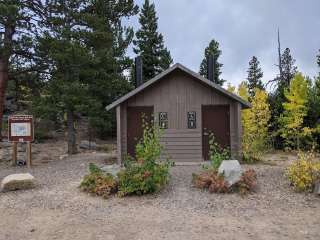
[[[241,103],[242,108],[250,108],[251,104],[245,100],[243,100],[241,97],[239,97],[238,95],[231,93],[229,91],[227,91],[226,89],[224,89],[223,87],[219,86],[218,84],[215,84],[211,81],[209,81],[208,79],[204,78],[203,76],[201,76],[198,73],[195,73],[194,71],[186,68],[185,66],[183,66],[180,63],[176,63],[174,64],[172,67],[168,68],[167,70],[163,71],[162,73],[158,74],[157,76],[155,76],[154,78],[150,79],[149,81],[143,83],[142,85],[140,85],[139,87],[137,87],[136,89],[132,90],[131,92],[127,93],[126,95],[124,95],[123,97],[119,98],[118,100],[114,101],[113,103],[111,103],[110,105],[108,105],[106,107],[106,110],[109,111],[111,109],[113,109],[114,107],[118,106],[119,104],[123,103],[124,101],[128,100],[129,98],[133,97],[134,95],[138,94],[139,92],[143,91],[144,89],[146,89],[147,87],[153,85],[154,83],[158,82],[159,80],[161,80],[164,76],[168,75],[169,73],[173,72],[176,69],[180,69],[183,72],[195,77],[196,79],[198,79],[201,83],[204,83],[206,86],[211,87],[215,90],[217,90],[218,92],[222,93],[223,95],[225,95],[226,97],[229,97],[239,103]]]

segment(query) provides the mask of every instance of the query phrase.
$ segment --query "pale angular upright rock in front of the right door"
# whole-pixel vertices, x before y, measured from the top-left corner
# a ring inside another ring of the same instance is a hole
[[[230,186],[238,182],[242,175],[242,170],[238,160],[224,160],[219,169],[219,174],[224,176],[224,179]]]

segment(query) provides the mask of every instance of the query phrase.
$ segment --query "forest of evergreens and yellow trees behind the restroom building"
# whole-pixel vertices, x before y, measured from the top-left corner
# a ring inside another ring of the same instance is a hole
[[[140,28],[134,32],[123,20],[137,14]],[[1,0],[0,34],[0,122],[21,110],[37,122],[49,120],[67,131],[70,154],[76,152],[79,119],[88,120],[94,137],[114,136],[114,113],[105,106],[135,86],[128,48],[133,45],[142,58],[144,81],[173,63],[158,31],[155,5],[148,0],[141,9],[133,0]],[[279,149],[319,146],[320,74],[299,73],[290,49],[282,51],[279,35],[275,48],[279,72],[274,79],[263,79],[253,56],[247,79],[239,87],[228,84],[229,91],[253,104],[243,114],[244,141],[257,148],[265,143]],[[206,77],[207,58],[214,56],[219,85],[228,82],[220,77],[221,54],[212,39],[199,63]],[[320,67],[320,50],[316,55]],[[267,120],[263,126],[262,118]],[[263,129],[259,136],[257,129]],[[36,131],[41,137],[46,129]]]

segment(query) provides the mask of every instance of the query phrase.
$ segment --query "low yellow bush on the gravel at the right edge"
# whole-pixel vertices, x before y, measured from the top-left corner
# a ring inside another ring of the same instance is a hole
[[[315,160],[313,150],[299,152],[298,160],[287,168],[286,176],[296,191],[312,191],[320,176],[320,162]]]

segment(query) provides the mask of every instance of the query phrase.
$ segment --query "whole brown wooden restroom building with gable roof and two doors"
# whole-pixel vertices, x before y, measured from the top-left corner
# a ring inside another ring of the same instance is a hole
[[[212,70],[208,72],[212,74]],[[208,160],[208,132],[237,158],[241,152],[241,110],[250,104],[210,78],[177,63],[107,106],[107,110],[116,108],[118,161],[127,154],[134,156],[143,132],[142,114],[154,117],[164,128],[161,142],[172,161]]]

